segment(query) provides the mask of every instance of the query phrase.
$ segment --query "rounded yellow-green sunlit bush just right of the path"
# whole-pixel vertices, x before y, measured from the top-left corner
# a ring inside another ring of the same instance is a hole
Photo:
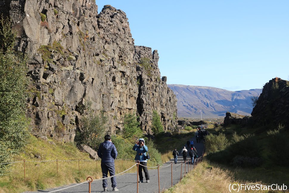
[[[207,135],[205,137],[205,146],[208,152],[219,152],[229,146],[229,141],[223,133],[219,133],[219,135]]]

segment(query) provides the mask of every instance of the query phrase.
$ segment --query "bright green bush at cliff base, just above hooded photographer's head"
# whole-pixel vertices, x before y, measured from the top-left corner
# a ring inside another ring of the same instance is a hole
[[[139,127],[139,122],[136,121],[135,115],[126,114],[123,121],[122,137],[131,138],[134,135],[142,135],[142,130]]]

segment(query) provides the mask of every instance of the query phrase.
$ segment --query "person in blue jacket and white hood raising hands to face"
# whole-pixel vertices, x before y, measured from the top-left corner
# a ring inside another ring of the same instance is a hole
[[[141,166],[139,165],[139,183],[144,182],[144,177],[142,175],[142,170],[145,172],[145,179],[147,180],[146,182],[150,182],[150,175],[148,174],[147,171],[147,146],[145,145],[145,140],[143,138],[140,138],[139,141],[136,142],[136,144],[133,146],[133,150],[136,151],[136,157],[134,158],[136,161],[139,161],[140,164],[144,165]]]

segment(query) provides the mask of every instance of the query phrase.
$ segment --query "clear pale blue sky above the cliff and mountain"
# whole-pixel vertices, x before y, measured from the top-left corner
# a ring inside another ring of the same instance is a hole
[[[135,45],[158,50],[167,84],[248,90],[289,78],[289,1],[96,1],[128,17]]]

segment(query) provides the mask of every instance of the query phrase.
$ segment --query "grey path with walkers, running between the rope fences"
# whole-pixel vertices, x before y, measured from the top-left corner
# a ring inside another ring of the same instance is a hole
[[[198,156],[200,157],[202,155],[204,145],[203,143],[196,143],[196,138],[193,138],[194,141],[194,147],[198,151]],[[183,141],[181,143],[186,143],[186,141]],[[181,150],[178,150],[179,154],[181,155]],[[187,157],[189,158],[189,157]],[[190,158],[189,158],[190,159]],[[170,160],[172,162],[172,160]],[[178,163],[173,164],[173,185],[178,183],[180,181],[181,177],[181,164],[178,165],[183,161],[182,156],[178,156]],[[164,163],[162,167],[170,165],[170,162]],[[186,172],[188,172],[188,164],[186,164]],[[116,182],[117,182],[117,188],[119,189],[119,192],[136,192],[136,166],[132,168],[135,170],[134,173],[125,173],[123,175],[116,176]],[[190,167],[189,167],[190,169]],[[193,169],[193,165],[192,165]],[[165,168],[159,168],[160,173],[160,190],[165,190],[171,187],[171,166],[165,167]],[[158,169],[150,169],[150,183],[139,183],[139,192],[159,192],[159,182],[158,182]],[[182,166],[182,176],[184,176],[184,165]],[[145,180],[144,180],[145,181]],[[71,184],[69,186],[72,186],[74,184]],[[57,189],[61,189],[68,186],[58,187],[54,189],[48,189],[48,190],[38,190],[37,193],[40,192],[50,192]],[[108,179],[108,192],[112,191],[111,187],[111,181]],[[66,193],[85,193],[88,192],[88,183],[81,184],[79,186],[75,186],[73,188],[69,188],[60,192],[66,192]],[[94,180],[91,183],[91,192],[103,192],[102,188],[102,180]],[[26,192],[28,193],[28,192]],[[36,192],[29,192],[29,193],[36,193]]]

